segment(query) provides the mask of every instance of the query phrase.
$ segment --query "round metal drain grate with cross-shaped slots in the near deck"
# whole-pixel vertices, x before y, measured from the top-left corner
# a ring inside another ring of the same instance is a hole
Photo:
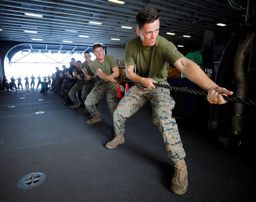
[[[41,172],[34,172],[24,176],[18,182],[18,187],[22,189],[31,189],[39,186],[46,179],[46,175]]]

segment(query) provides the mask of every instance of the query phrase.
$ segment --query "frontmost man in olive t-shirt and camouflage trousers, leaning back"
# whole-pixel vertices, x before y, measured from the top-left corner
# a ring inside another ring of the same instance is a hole
[[[210,80],[195,62],[181,54],[174,44],[158,36],[160,14],[152,7],[144,7],[136,16],[137,35],[126,45],[125,65],[126,76],[136,85],[127,91],[114,111],[114,138],[106,144],[106,148],[114,149],[125,142],[125,121],[139,110],[147,101],[152,107],[154,123],[158,126],[164,140],[168,157],[174,162],[174,176],[171,180],[171,191],[184,194],[188,187],[188,173],[185,164],[185,151],[181,142],[172,109],[175,101],[170,90],[156,88],[154,83],[166,84],[166,62],[174,64],[189,80],[195,82],[208,92],[208,102],[224,104],[227,101],[222,94],[232,95]],[[134,73],[137,65],[139,75]]]

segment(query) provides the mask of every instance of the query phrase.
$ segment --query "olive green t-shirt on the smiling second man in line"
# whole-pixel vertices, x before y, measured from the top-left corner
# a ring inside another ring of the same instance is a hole
[[[110,75],[113,73],[112,69],[115,68],[117,66],[117,61],[115,61],[115,58],[113,56],[104,56],[104,62],[99,62],[97,59],[95,59],[92,64],[90,64],[90,67],[92,68],[92,70],[95,71],[97,69],[101,69],[103,71],[103,73],[105,73],[106,75]],[[105,82],[103,79],[101,78],[97,78],[98,84],[105,84],[107,82]]]

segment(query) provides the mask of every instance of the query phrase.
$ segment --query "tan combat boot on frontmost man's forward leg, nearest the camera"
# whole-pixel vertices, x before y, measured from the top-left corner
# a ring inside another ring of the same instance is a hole
[[[188,188],[188,172],[184,159],[174,162],[174,176],[171,181],[170,190],[176,194],[183,195]]]

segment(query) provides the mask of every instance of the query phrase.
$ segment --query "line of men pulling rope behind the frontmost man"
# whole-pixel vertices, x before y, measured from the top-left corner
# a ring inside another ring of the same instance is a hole
[[[68,69],[65,65],[63,71],[56,67],[55,79],[52,82],[56,94],[66,100],[64,104],[70,105],[70,108],[85,107],[84,113],[90,113],[91,118],[87,121],[88,124],[102,121],[98,102],[104,94],[113,116],[117,107],[117,81],[114,78],[119,75],[115,58],[105,56],[101,44],[95,44],[92,49],[96,60],[90,60],[90,52],[85,51],[84,62],[72,58]]]

